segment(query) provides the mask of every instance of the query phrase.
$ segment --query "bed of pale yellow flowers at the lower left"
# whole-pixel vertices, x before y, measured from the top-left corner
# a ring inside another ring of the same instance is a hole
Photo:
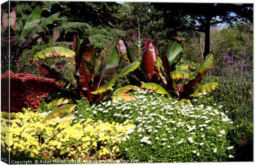
[[[73,160],[115,159],[119,143],[135,125],[104,123],[92,119],[61,122],[59,117],[42,123],[47,113],[10,113],[10,127],[1,112],[1,145],[12,155]],[[10,141],[8,139],[10,137]],[[8,148],[10,146],[10,148]]]

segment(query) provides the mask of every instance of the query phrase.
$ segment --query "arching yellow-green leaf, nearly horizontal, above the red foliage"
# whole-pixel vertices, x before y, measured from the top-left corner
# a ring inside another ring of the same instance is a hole
[[[34,55],[33,61],[45,59],[52,56],[75,57],[75,52],[65,47],[49,47]]]

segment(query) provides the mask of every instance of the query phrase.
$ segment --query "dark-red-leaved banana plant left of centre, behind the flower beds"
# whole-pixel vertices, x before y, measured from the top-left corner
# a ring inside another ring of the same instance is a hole
[[[122,75],[127,75],[140,65],[141,59],[137,59],[123,68],[119,73],[114,74],[114,71],[119,65],[120,57],[116,43],[111,42],[107,47],[109,54],[102,59],[99,71],[95,73],[96,53],[90,40],[86,38],[81,42],[78,36],[75,37],[74,59],[76,70],[73,75],[76,79],[76,83],[70,82],[67,78],[62,76],[61,73],[46,64],[38,64],[38,68],[45,77],[62,80],[64,87],[70,84],[69,87],[81,94],[82,97],[87,97],[88,100],[93,103],[101,100],[103,96],[106,98],[111,91],[113,91],[112,87],[115,85],[117,78]],[[55,51],[57,52],[58,50]],[[109,80],[109,82],[106,83],[106,80]]]

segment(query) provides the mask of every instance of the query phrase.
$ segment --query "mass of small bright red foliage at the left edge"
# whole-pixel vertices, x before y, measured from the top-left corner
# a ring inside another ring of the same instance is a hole
[[[10,81],[8,79],[10,77]],[[1,75],[1,110],[8,111],[8,84],[10,82],[10,112],[19,112],[21,108],[38,108],[43,97],[55,92],[61,83],[28,73],[14,74],[12,71]]]

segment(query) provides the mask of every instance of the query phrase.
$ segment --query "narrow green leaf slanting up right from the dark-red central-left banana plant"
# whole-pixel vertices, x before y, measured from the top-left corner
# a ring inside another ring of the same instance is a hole
[[[126,66],[125,68],[123,68],[118,74],[114,75],[112,80],[109,81],[107,83],[107,85],[108,86],[115,85],[115,82],[116,82],[117,78],[119,78],[122,75],[127,75],[128,73],[130,73],[130,72],[134,71],[135,69],[137,69],[139,66],[140,66],[140,59],[137,59],[132,64],[130,64],[130,65]]]

